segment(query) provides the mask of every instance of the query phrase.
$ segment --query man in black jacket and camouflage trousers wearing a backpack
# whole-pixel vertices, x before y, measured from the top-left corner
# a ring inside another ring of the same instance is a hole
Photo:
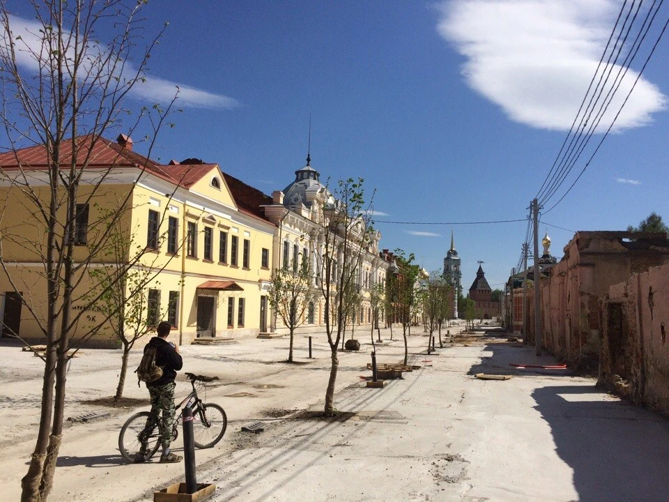
[[[173,462],[180,462],[182,457],[175,455],[169,449],[172,441],[172,426],[174,424],[174,388],[176,383],[176,372],[183,366],[183,360],[179,353],[179,347],[168,342],[169,330],[171,326],[168,322],[162,321],[157,327],[157,336],[151,338],[144,353],[149,347],[155,347],[155,365],[162,367],[162,377],[159,379],[147,382],[146,388],[151,395],[151,413],[158,417],[158,425],[160,427],[160,443],[162,444],[162,455],[160,455],[161,463],[171,464]],[[162,416],[160,412],[162,411]],[[146,458],[146,445],[142,444],[135,462],[144,462]]]

